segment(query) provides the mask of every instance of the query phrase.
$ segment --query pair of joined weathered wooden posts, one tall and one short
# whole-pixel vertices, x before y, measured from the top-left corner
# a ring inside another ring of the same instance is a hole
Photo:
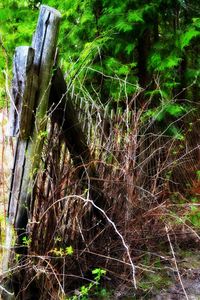
[[[32,47],[19,47],[15,52],[9,131],[11,136],[17,137],[17,141],[8,205],[4,271],[8,270],[9,265],[12,227],[17,231],[18,242],[22,242],[26,232],[34,179],[41,160],[43,132],[47,125],[60,19],[57,10],[42,5]],[[11,293],[6,295],[5,292],[4,298],[9,297],[12,298]]]

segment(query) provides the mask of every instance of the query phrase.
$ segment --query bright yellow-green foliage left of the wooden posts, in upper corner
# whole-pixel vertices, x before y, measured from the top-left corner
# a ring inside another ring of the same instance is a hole
[[[14,49],[31,44],[36,21],[37,10],[30,1],[0,1],[0,108],[7,104]]]

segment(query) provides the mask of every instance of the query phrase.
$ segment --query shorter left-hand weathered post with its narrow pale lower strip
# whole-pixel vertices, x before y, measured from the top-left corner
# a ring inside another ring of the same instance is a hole
[[[13,239],[13,225],[15,224],[15,217],[19,206],[26,160],[25,153],[28,146],[28,137],[31,133],[33,107],[37,88],[37,77],[33,71],[34,49],[28,46],[16,48],[13,60],[12,101],[10,104],[8,134],[9,136],[17,138],[11,174],[3,271],[8,269]]]

